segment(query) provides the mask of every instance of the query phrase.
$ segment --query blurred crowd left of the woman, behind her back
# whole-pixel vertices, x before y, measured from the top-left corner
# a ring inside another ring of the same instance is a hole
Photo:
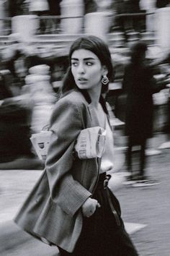
[[[30,136],[48,125],[68,65],[66,52],[27,46],[11,36],[16,41],[0,53],[0,163],[35,156]]]

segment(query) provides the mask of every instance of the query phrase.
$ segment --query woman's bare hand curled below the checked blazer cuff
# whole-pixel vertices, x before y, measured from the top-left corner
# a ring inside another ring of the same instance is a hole
[[[100,207],[99,202],[89,197],[81,206],[83,216],[89,218],[91,215],[93,215],[95,210],[99,207]]]

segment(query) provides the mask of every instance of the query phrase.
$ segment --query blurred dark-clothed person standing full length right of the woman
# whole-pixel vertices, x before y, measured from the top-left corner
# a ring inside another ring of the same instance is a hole
[[[157,84],[152,69],[146,62],[147,46],[143,42],[133,45],[131,61],[125,67],[123,91],[127,95],[125,114],[125,134],[128,135],[128,171],[130,180],[148,179],[146,166],[146,141],[153,132],[153,93],[165,88],[164,82]],[[133,173],[132,150],[140,145],[140,168]]]

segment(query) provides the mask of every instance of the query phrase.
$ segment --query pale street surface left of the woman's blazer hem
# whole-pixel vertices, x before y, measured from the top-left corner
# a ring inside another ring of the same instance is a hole
[[[52,256],[57,247],[32,238],[12,221],[42,171],[0,171],[0,255],[1,256]]]

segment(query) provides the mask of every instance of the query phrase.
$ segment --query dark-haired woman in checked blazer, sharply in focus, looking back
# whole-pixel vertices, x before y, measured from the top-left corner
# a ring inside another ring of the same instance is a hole
[[[119,202],[107,187],[106,171],[112,166],[103,164],[112,162],[108,158],[113,147],[102,98],[112,77],[109,49],[97,37],[83,37],[71,46],[69,59],[63,95],[50,121],[53,134],[45,171],[15,221],[56,244],[61,255],[138,255],[125,231]],[[102,159],[79,159],[73,153],[79,133],[89,127],[107,130]]]

